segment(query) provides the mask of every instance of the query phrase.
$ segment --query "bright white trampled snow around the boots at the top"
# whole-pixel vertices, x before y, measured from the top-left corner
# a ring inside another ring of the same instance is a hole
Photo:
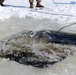
[[[54,1],[59,2],[60,0]],[[64,1],[66,0],[63,0],[62,2]],[[72,2],[72,0],[67,0],[67,2]],[[4,4],[7,5],[7,8],[0,7],[1,20],[9,19],[11,17],[26,18],[28,16],[35,19],[48,18],[59,23],[69,23],[75,22],[76,19],[76,4],[56,5],[52,0],[43,0],[42,4],[45,8],[42,10],[35,10],[36,8],[31,10],[28,8],[28,0],[5,0]],[[34,7],[35,5],[36,1],[34,2]]]

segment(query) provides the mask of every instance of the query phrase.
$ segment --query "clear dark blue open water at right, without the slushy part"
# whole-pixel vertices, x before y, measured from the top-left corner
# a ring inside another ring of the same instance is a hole
[[[52,32],[50,36],[51,36],[51,42],[76,45],[76,34]]]

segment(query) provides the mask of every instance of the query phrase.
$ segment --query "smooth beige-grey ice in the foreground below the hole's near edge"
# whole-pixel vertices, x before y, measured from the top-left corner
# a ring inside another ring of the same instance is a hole
[[[76,55],[44,69],[24,66],[14,61],[0,59],[1,75],[76,75]]]

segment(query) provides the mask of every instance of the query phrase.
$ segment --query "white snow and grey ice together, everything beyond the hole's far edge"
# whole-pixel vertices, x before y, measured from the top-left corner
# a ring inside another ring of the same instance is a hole
[[[23,30],[56,30],[76,22],[76,4],[54,4],[60,0],[42,0],[44,9],[29,8],[28,0],[5,0],[0,6],[0,40]],[[67,0],[70,3],[72,0]],[[74,1],[74,0],[73,0]],[[66,0],[62,0],[62,3]],[[27,17],[30,18],[27,20]],[[33,18],[33,19],[32,19]],[[18,22],[19,21],[19,22]],[[15,24],[16,23],[16,24]],[[62,29],[76,34],[76,24]]]

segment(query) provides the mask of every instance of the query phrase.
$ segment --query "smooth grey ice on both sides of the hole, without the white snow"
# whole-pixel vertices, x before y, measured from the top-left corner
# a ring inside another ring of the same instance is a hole
[[[8,38],[13,34],[25,30],[56,30],[61,27],[60,24],[48,19],[32,19],[32,18],[11,18],[5,21],[0,21],[0,40]],[[67,28],[68,29],[68,28]],[[70,28],[71,29],[71,28]],[[70,29],[69,32],[70,32]],[[64,29],[65,32],[68,32]],[[71,32],[75,30],[71,29]],[[73,47],[73,50],[75,47]],[[76,75],[76,55],[69,56],[65,60],[47,68],[38,69],[32,66],[21,65],[14,61],[0,59],[0,74],[1,75]]]

